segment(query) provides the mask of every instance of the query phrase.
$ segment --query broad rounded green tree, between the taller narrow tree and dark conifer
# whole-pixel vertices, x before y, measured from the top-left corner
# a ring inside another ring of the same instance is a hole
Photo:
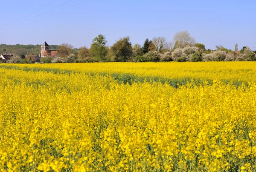
[[[116,43],[111,46],[111,51],[115,55],[115,61],[126,62],[132,56],[132,46],[130,42],[130,37],[120,38]]]

